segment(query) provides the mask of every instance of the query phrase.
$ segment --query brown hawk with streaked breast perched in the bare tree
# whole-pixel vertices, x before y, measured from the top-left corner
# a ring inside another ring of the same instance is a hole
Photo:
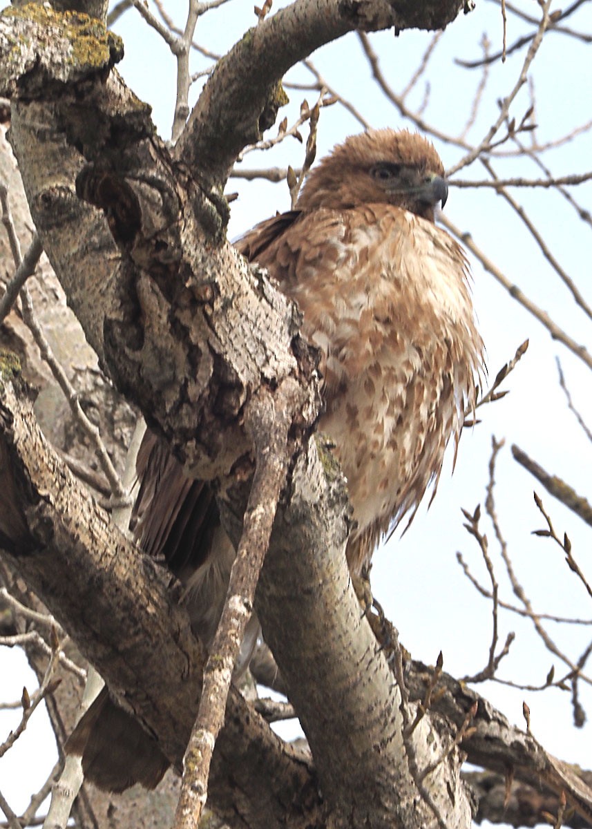
[[[262,222],[237,245],[298,303],[303,335],[322,353],[318,429],[335,444],[347,478],[354,574],[386,531],[413,516],[431,482],[435,489],[483,366],[463,250],[434,225],[434,207],[447,196],[443,176],[425,138],[370,130],[347,138],[309,173],[296,210]],[[207,644],[234,558],[216,501],[150,433],[138,478],[138,541],[182,579]],[[243,663],[256,635],[253,620]],[[152,787],[167,768],[155,741],[106,691],[76,727],[70,750],[83,754],[88,778],[114,791],[136,780]]]

